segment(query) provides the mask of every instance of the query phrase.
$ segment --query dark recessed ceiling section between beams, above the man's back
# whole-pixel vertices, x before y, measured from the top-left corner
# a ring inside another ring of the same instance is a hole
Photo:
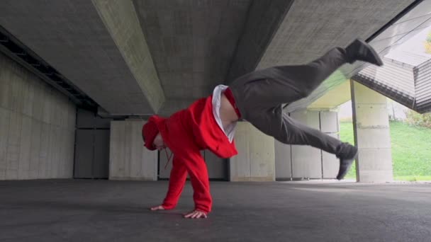
[[[161,113],[185,108],[225,82],[251,2],[133,0],[165,96],[175,107],[164,105]]]

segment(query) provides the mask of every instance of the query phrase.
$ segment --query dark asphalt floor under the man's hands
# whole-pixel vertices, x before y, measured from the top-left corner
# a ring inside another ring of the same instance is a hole
[[[0,241],[431,241],[431,184],[211,182],[208,219],[188,183],[150,212],[167,181],[0,182]]]

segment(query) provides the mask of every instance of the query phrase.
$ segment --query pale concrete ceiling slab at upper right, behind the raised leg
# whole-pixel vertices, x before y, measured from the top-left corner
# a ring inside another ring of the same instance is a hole
[[[256,64],[257,69],[305,64],[332,47],[347,46],[354,38],[370,38],[413,2],[379,0],[364,4],[353,0],[331,0],[322,4],[321,1],[294,1],[274,33],[274,38],[262,53],[262,59]],[[384,48],[391,44],[393,43],[386,40]],[[363,68],[362,62],[345,65],[310,96],[291,103],[286,110],[291,112],[306,108]]]

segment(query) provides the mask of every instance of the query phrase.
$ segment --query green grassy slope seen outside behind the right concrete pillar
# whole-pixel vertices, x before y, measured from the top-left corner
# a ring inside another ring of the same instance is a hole
[[[390,122],[394,180],[431,180],[431,129]],[[340,139],[354,144],[352,122],[340,122]],[[352,167],[346,178],[356,178]]]

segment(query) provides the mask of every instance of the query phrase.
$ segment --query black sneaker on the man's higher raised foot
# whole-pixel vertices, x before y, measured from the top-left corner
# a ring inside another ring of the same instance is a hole
[[[379,54],[364,40],[354,40],[349,46],[346,47],[345,50],[347,54],[347,62],[350,64],[360,60],[363,62],[375,64],[379,67],[383,66],[383,62],[380,59]]]

